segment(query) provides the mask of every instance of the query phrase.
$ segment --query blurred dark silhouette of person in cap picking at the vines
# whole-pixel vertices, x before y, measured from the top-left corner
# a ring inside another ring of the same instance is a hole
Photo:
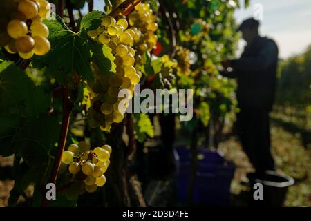
[[[223,61],[225,77],[236,78],[237,126],[243,150],[255,169],[255,177],[275,170],[270,152],[270,111],[276,92],[278,47],[258,32],[259,21],[246,19],[239,26],[247,42],[240,59]]]

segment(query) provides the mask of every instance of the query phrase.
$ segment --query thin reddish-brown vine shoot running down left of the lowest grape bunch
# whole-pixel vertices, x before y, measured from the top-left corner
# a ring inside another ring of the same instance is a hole
[[[69,88],[66,86],[62,88],[62,100],[63,100],[63,117],[62,117],[62,127],[59,135],[57,152],[55,155],[55,161],[52,168],[52,172],[50,174],[49,182],[55,184],[57,180],[57,173],[59,171],[59,167],[62,161],[62,155],[64,152],[69,123],[70,123],[70,115],[73,110],[73,104],[70,102],[70,95],[69,95]],[[48,200],[44,197],[44,201],[42,202],[41,206],[46,207],[48,206]]]

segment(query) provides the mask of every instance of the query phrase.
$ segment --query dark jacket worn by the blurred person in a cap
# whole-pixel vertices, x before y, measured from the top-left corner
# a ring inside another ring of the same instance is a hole
[[[238,81],[239,108],[267,108],[271,111],[276,92],[278,47],[272,39],[256,37],[241,58],[232,61],[233,72],[226,77]]]

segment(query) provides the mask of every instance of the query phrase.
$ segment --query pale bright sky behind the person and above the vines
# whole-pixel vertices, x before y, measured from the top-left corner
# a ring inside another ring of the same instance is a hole
[[[244,2],[244,0],[240,0]],[[103,0],[94,0],[95,9],[102,10]],[[241,23],[254,15],[254,6],[261,4],[263,21],[261,35],[271,37],[279,45],[279,57],[296,55],[311,45],[311,0],[250,0],[249,8],[236,10],[234,16]],[[241,4],[243,6],[243,3]],[[239,44],[243,49],[243,41]]]

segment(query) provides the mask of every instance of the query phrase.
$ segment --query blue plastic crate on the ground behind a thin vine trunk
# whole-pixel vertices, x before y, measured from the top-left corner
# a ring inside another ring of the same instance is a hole
[[[187,153],[188,152],[188,153]],[[199,160],[194,202],[211,206],[229,206],[230,184],[234,177],[234,164],[227,162],[216,152],[201,151],[204,155]],[[176,181],[178,198],[185,202],[190,174],[190,158],[187,149],[176,149]]]

